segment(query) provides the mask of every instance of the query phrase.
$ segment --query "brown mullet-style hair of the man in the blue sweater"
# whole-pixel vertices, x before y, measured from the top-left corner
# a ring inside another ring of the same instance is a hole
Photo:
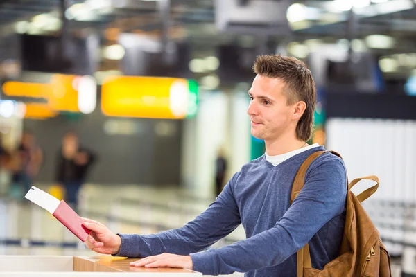
[[[296,139],[308,141],[313,132],[313,112],[316,105],[316,88],[312,73],[304,62],[295,57],[281,55],[259,55],[253,66],[254,72],[268,78],[279,78],[284,82],[287,105],[304,101],[306,109],[296,126]]]

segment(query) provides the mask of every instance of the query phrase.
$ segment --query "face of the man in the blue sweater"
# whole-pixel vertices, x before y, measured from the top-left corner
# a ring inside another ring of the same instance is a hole
[[[294,105],[287,105],[283,93],[284,82],[278,78],[257,75],[248,92],[250,105],[248,115],[251,121],[251,134],[257,139],[274,141],[286,132],[294,132]]]

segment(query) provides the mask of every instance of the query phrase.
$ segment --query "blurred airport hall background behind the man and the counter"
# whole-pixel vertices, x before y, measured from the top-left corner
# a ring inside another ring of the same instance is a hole
[[[277,53],[315,78],[310,143],[340,152],[350,180],[380,177],[364,206],[394,276],[416,276],[415,6],[1,0],[0,255],[94,255],[24,199],[32,185],[114,232],[192,220],[263,154],[247,92],[257,55]]]

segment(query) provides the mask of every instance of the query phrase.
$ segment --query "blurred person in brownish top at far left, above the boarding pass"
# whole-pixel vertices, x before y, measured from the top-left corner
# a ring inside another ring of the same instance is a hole
[[[35,136],[25,131],[21,136],[21,143],[12,152],[12,186],[10,196],[21,199],[33,184],[43,162],[43,153],[36,144]]]

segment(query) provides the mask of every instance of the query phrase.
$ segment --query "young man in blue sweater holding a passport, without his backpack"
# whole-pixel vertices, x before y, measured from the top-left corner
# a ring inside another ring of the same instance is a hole
[[[249,91],[251,133],[266,154],[237,172],[205,212],[180,229],[155,235],[116,235],[85,220],[92,230],[87,247],[98,253],[144,258],[135,267],[182,267],[203,274],[246,272],[245,276],[296,276],[296,252],[306,242],[312,265],[322,269],[338,256],[345,225],[347,175],[343,161],[327,152],[315,159],[304,188],[290,205],[297,170],[319,145],[313,131],[316,90],[303,62],[280,55],[259,56]],[[243,224],[247,238],[207,249]]]

